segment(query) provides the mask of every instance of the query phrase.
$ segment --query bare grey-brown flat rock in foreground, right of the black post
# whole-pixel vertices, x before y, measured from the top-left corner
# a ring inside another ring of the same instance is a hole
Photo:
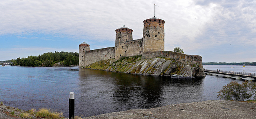
[[[208,100],[152,109],[132,109],[83,119],[256,119],[256,103]]]

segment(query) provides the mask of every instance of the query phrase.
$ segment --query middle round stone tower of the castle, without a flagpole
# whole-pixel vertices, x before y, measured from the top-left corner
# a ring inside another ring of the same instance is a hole
[[[127,49],[126,41],[132,41],[132,29],[128,27],[120,27],[116,29],[116,56],[115,59],[119,59],[121,56],[125,55]]]

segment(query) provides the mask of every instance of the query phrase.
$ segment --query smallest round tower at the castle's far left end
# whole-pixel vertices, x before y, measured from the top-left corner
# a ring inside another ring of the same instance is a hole
[[[85,66],[85,53],[90,51],[90,45],[83,42],[79,45],[79,67]]]

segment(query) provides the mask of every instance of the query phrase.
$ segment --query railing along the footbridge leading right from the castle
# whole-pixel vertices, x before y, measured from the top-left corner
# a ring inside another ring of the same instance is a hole
[[[206,72],[214,72],[214,73],[220,73],[220,74],[228,74],[228,75],[237,75],[237,76],[248,76],[248,77],[254,77],[256,78],[255,73],[246,73],[246,72],[234,72],[234,71],[217,71],[217,70],[209,70],[209,69],[204,69]]]

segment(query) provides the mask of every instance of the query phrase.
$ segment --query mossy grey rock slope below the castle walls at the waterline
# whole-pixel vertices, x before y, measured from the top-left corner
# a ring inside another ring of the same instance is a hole
[[[171,76],[173,74],[205,76],[203,69],[199,66],[190,66],[174,59],[161,57],[143,59],[141,56],[134,56],[121,60],[108,59],[90,64],[86,68],[152,76]]]

